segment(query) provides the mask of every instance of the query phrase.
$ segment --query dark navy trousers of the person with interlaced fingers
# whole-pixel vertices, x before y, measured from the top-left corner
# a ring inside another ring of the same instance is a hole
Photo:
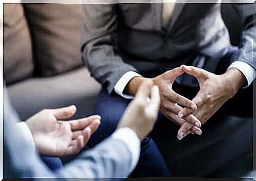
[[[231,48],[221,59],[217,73],[225,71],[235,51],[236,48]],[[147,74],[153,75],[156,71]],[[173,88],[191,99],[198,91],[198,87],[179,84]],[[98,144],[115,131],[129,101],[101,90],[95,111],[101,115],[101,125],[92,135],[89,146]],[[177,140],[179,127],[159,114],[153,131],[141,143],[139,163],[131,177],[167,177],[170,176],[167,167],[175,177],[205,177],[231,160],[252,152],[252,119],[231,116],[226,110],[220,109],[202,126],[202,136],[188,135],[180,141]]]

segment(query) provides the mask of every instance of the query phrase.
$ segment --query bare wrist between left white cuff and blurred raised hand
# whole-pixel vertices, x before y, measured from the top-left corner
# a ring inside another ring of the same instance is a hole
[[[125,89],[124,89],[124,93],[125,94],[130,94],[132,96],[135,96],[138,90],[138,87],[140,86],[140,84],[142,84],[144,81],[148,80],[149,78],[145,78],[145,77],[139,77],[136,76],[134,78],[132,78],[128,84],[126,85]]]

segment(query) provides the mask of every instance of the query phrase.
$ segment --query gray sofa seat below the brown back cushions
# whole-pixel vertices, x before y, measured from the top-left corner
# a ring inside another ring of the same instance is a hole
[[[100,85],[86,68],[48,78],[30,78],[8,87],[10,97],[22,120],[43,108],[58,108],[74,104],[74,117],[93,113]]]

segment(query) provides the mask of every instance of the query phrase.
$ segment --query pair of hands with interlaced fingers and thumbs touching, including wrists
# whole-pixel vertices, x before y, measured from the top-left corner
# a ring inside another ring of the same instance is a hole
[[[200,84],[200,91],[193,100],[172,90],[175,78],[183,73],[196,77]],[[159,87],[160,112],[181,126],[177,134],[179,140],[189,133],[202,135],[200,127],[245,83],[244,75],[236,68],[215,75],[201,68],[182,65],[155,78],[135,77],[126,86],[125,93],[135,95],[137,87],[148,80]]]

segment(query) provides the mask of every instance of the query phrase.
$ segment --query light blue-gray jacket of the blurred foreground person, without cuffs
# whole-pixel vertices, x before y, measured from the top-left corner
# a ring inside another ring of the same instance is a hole
[[[4,178],[125,178],[131,165],[131,154],[121,141],[107,138],[63,169],[52,172],[33,151],[18,130],[19,121],[4,92]]]

